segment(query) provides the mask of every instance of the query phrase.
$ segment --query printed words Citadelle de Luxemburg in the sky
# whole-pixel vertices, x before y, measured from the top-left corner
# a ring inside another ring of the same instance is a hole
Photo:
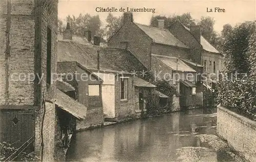
[[[156,9],[152,8],[129,8],[129,7],[121,7],[121,8],[115,8],[115,7],[96,7],[96,12],[152,12],[155,13]]]

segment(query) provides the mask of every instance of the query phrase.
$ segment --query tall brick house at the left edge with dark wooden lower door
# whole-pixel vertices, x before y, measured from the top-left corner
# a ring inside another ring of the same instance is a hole
[[[54,154],[57,6],[57,0],[0,2],[0,141],[17,147],[28,141],[45,161]]]

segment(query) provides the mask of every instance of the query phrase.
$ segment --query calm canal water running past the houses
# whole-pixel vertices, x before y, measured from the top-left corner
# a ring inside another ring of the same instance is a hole
[[[67,161],[177,161],[177,150],[200,147],[196,135],[215,134],[216,122],[216,109],[196,109],[78,132],[66,158]],[[223,158],[218,152],[209,156],[206,160]]]

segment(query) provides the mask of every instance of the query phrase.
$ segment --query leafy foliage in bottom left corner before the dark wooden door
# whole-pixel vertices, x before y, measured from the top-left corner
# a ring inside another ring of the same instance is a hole
[[[0,143],[0,161],[5,160],[12,155],[18,148],[12,147],[12,144],[3,142]],[[16,161],[38,161],[39,157],[34,153],[22,152],[16,159]]]

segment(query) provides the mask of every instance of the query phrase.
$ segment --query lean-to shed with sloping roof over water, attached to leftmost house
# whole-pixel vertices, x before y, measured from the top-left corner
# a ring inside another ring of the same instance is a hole
[[[63,80],[57,80],[55,102],[54,160],[65,161],[65,155],[75,136],[77,121],[85,120],[87,107],[73,97],[75,88]]]

